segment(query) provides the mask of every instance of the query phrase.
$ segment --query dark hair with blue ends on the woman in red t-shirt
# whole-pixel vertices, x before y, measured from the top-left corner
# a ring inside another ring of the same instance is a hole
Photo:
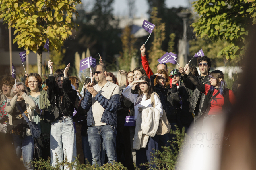
[[[219,82],[219,78],[222,79],[220,82],[220,94],[223,96],[227,90],[227,83],[224,80],[223,72],[220,70],[214,70],[214,71],[210,72],[209,78],[214,78],[217,80],[217,82]],[[214,89],[215,89],[215,87],[211,86],[210,90],[214,91]]]

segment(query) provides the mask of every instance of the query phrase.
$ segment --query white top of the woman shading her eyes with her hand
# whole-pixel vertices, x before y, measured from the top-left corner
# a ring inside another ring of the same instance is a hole
[[[130,86],[128,85],[125,90],[123,90],[123,96],[128,99],[129,101],[135,103],[136,99],[137,99],[137,96],[138,94],[132,94],[131,93],[131,89],[132,89],[133,86]],[[134,106],[134,118],[137,119],[137,116],[138,116],[138,107],[152,107],[151,105],[151,98],[148,99],[148,100],[145,100],[146,98],[146,95],[143,95],[143,98],[141,100],[141,103],[137,104],[136,106]],[[155,102],[156,102],[156,109],[160,111],[160,117],[163,116],[163,106],[162,106],[162,103],[159,99],[159,97],[157,95],[154,95],[154,99],[155,99]]]

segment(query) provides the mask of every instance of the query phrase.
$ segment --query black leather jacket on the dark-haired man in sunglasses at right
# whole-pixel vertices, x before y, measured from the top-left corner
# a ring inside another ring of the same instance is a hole
[[[204,80],[206,79],[206,83],[205,84],[209,84],[210,85],[211,83],[210,83],[210,81],[208,79],[208,76],[209,76],[209,74],[204,77]],[[203,107],[203,103],[204,103],[204,99],[205,99],[205,94],[201,93],[196,88],[196,86],[191,82],[191,80],[189,80],[189,78],[187,77],[186,74],[183,75],[182,78],[183,78],[183,82],[184,82],[185,87],[188,88],[188,89],[194,90],[193,95],[192,95],[191,100],[190,100],[189,112],[195,112],[195,107],[197,105],[197,102],[201,102],[201,107],[199,108],[201,110],[202,107]],[[202,82],[201,75],[197,76],[197,79],[200,82]],[[200,95],[201,95],[201,100],[198,101]],[[195,116],[198,116],[197,114],[198,114],[198,112],[195,113]]]

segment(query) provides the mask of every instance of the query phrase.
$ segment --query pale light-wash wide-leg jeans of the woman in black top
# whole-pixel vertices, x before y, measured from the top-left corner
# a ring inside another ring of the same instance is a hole
[[[72,117],[67,117],[62,122],[59,122],[59,120],[60,119],[57,119],[51,122],[50,141],[52,166],[55,166],[55,152],[57,152],[57,157],[60,162],[63,161],[63,154],[64,156],[67,155],[68,162],[75,161],[75,157],[77,156],[76,134]],[[65,167],[65,169],[66,168],[67,167]]]

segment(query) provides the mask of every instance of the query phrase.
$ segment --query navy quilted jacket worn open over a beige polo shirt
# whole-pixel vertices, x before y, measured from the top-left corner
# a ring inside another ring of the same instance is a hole
[[[104,97],[100,93],[95,96],[95,100],[97,100],[100,105],[105,109],[100,122],[104,122],[106,124],[117,127],[116,112],[117,109],[121,107],[120,98],[121,96],[119,94],[111,96],[110,99],[106,99],[106,97]],[[84,100],[82,101],[81,105],[83,109],[89,109],[87,113],[87,125],[93,125],[94,121],[92,114],[92,94],[88,90],[86,90],[85,92]]]

